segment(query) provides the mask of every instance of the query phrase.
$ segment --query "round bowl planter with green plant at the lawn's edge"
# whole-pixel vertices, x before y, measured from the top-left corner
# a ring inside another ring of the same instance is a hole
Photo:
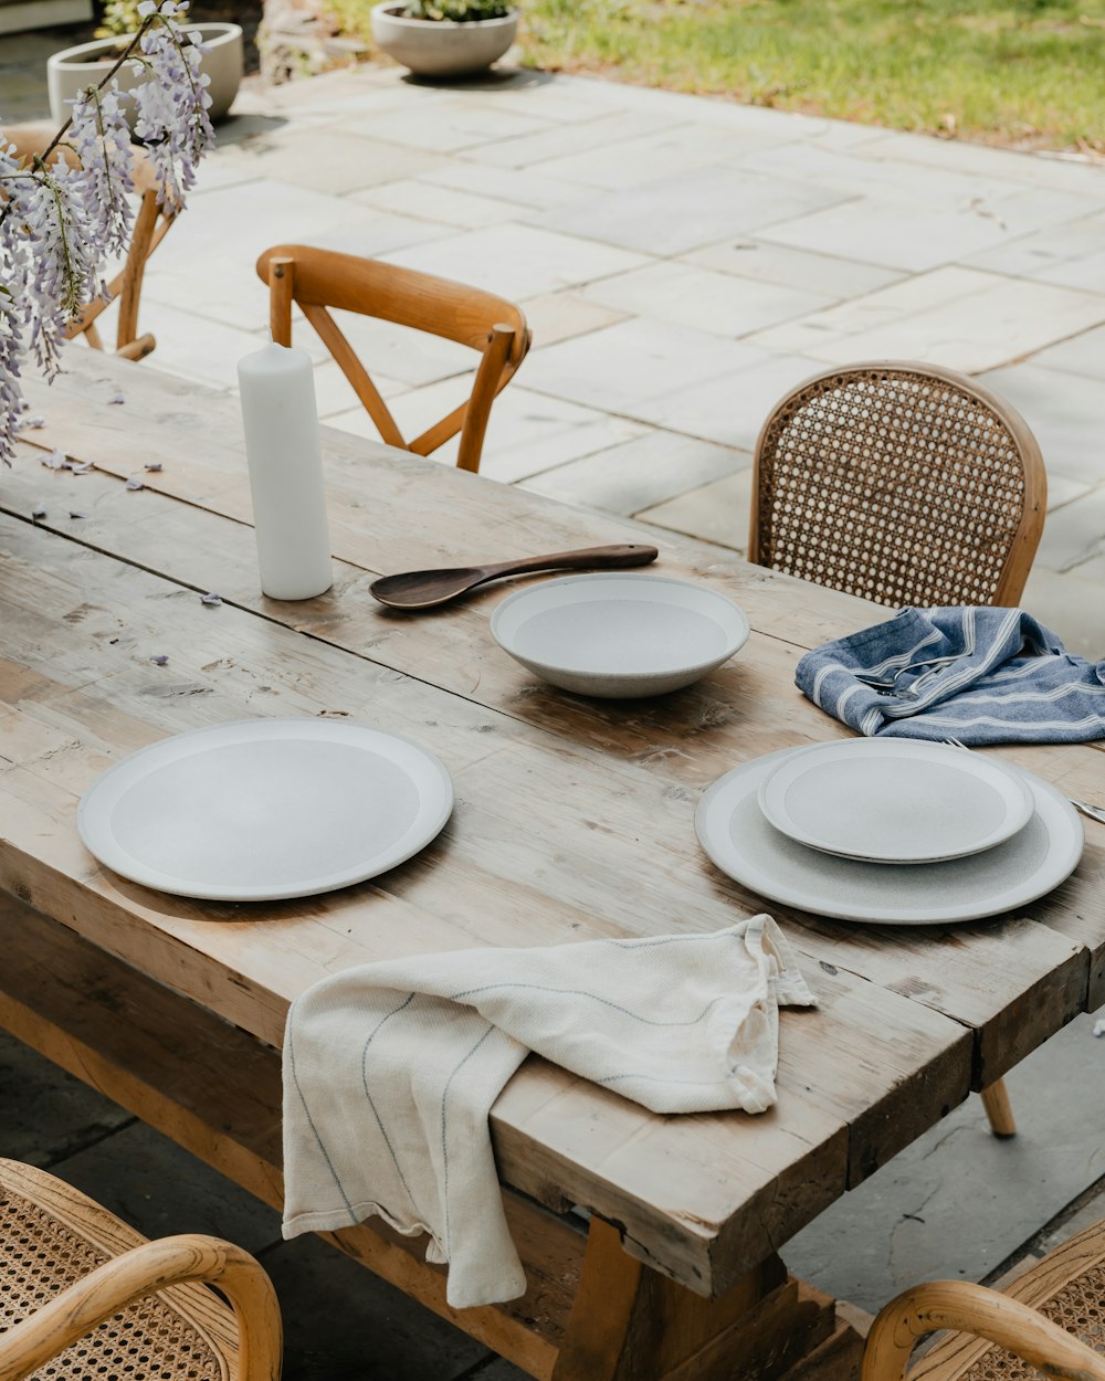
[[[383,0],[372,11],[377,47],[425,77],[482,72],[517,30],[518,11],[503,0]]]

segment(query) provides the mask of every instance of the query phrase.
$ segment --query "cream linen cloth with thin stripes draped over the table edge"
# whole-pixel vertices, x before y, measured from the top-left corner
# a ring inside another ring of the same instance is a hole
[[[653,1112],[758,1113],[775,1102],[780,1003],[816,998],[769,916],[326,978],[285,1033],[283,1235],[378,1214],[430,1233],[454,1308],[514,1300],[526,1283],[488,1114],[528,1051]]]

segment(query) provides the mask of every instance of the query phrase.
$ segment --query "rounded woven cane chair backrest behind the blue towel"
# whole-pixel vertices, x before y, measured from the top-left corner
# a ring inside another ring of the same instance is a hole
[[[756,443],[749,561],[887,605],[1015,605],[1047,478],[1024,418],[906,362],[825,370]]]

